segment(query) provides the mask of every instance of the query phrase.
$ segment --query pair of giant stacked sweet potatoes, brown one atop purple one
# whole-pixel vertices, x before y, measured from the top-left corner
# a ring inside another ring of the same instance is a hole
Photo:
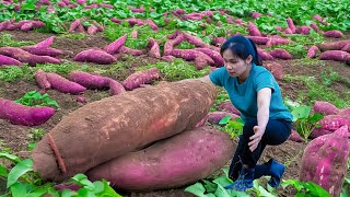
[[[89,174],[125,183],[120,187],[126,189],[168,188],[196,182],[222,167],[233,151],[229,136],[209,128],[192,130],[208,114],[215,96],[212,84],[192,80],[137,89],[89,103],[63,117],[38,142],[32,152],[34,169],[44,179],[63,181],[115,159],[117,167],[113,160]],[[180,135],[173,139],[177,134]],[[149,147],[165,138],[170,139]],[[130,153],[145,147],[149,148]],[[156,165],[141,167],[140,162]],[[120,164],[127,169],[118,167]],[[148,178],[130,185],[142,174]],[[164,183],[158,185],[158,177]]]

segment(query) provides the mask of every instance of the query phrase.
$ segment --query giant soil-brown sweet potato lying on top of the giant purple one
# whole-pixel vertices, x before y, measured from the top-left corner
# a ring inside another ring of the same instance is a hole
[[[153,141],[192,129],[208,114],[215,96],[212,84],[191,80],[89,103],[65,116],[37,143],[32,152],[34,170],[44,179],[56,181],[84,173]],[[56,154],[51,147],[57,147]]]

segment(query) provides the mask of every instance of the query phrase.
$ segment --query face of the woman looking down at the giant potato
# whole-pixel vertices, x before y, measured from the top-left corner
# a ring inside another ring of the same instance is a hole
[[[223,51],[224,66],[231,77],[240,77],[245,74],[250,68],[250,57],[247,60],[241,59],[238,56],[232,54],[230,49]]]

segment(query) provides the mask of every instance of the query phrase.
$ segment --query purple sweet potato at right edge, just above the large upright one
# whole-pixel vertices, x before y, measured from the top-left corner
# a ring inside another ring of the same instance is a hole
[[[338,128],[348,125],[350,126],[350,119],[339,115],[327,115],[318,123],[322,129],[335,131]]]

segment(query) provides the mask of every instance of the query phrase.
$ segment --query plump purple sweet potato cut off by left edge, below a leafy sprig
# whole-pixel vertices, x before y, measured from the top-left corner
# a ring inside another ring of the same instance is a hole
[[[51,107],[32,107],[0,99],[0,118],[8,119],[14,125],[38,126],[46,123],[54,114],[55,109]]]

